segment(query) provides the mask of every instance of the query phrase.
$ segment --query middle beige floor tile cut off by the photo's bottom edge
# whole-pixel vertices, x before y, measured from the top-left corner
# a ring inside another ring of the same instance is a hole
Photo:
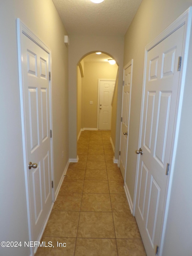
[[[77,238],[74,256],[117,256],[116,240]]]

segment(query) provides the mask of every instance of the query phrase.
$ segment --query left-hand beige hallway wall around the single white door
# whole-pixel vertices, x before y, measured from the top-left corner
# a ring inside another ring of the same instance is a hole
[[[68,161],[68,49],[66,30],[52,0],[1,0],[0,130],[1,241],[28,241],[27,201],[22,150],[16,18],[52,51],[52,116],[55,189]],[[62,159],[62,151],[64,158]],[[1,255],[26,256],[29,248],[0,248]]]

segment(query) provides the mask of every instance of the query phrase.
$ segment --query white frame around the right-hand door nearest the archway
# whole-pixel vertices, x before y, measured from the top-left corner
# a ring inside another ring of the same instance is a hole
[[[129,119],[128,119],[126,152],[128,151],[128,140],[129,140],[129,121],[130,121],[130,113],[131,113],[131,89],[132,89],[132,79],[133,79],[133,59],[123,67],[123,84],[125,83],[125,69],[128,68],[129,66],[131,66],[131,84],[130,84],[130,96],[129,96],[129,113],[128,113]],[[123,113],[123,90],[122,90],[122,100],[121,100],[121,118],[122,118],[122,113]],[[122,122],[120,127],[120,134],[121,134],[121,129],[122,129]],[[121,136],[119,138],[119,151],[121,151]],[[118,166],[120,166],[120,155],[118,159]],[[125,177],[126,177],[126,170],[127,170],[127,156],[125,161]],[[125,177],[124,177],[124,185],[125,185]]]

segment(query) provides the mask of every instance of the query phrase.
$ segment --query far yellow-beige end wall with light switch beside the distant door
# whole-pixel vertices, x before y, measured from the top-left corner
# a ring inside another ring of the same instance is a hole
[[[83,128],[97,128],[98,79],[116,79],[117,64],[105,62],[84,63]],[[93,101],[93,104],[89,104]]]

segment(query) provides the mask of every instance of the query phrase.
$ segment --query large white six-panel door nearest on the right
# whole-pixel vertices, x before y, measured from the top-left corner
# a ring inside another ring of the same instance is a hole
[[[184,26],[147,53],[143,155],[140,155],[135,218],[148,256],[160,242],[179,88],[178,59]]]

